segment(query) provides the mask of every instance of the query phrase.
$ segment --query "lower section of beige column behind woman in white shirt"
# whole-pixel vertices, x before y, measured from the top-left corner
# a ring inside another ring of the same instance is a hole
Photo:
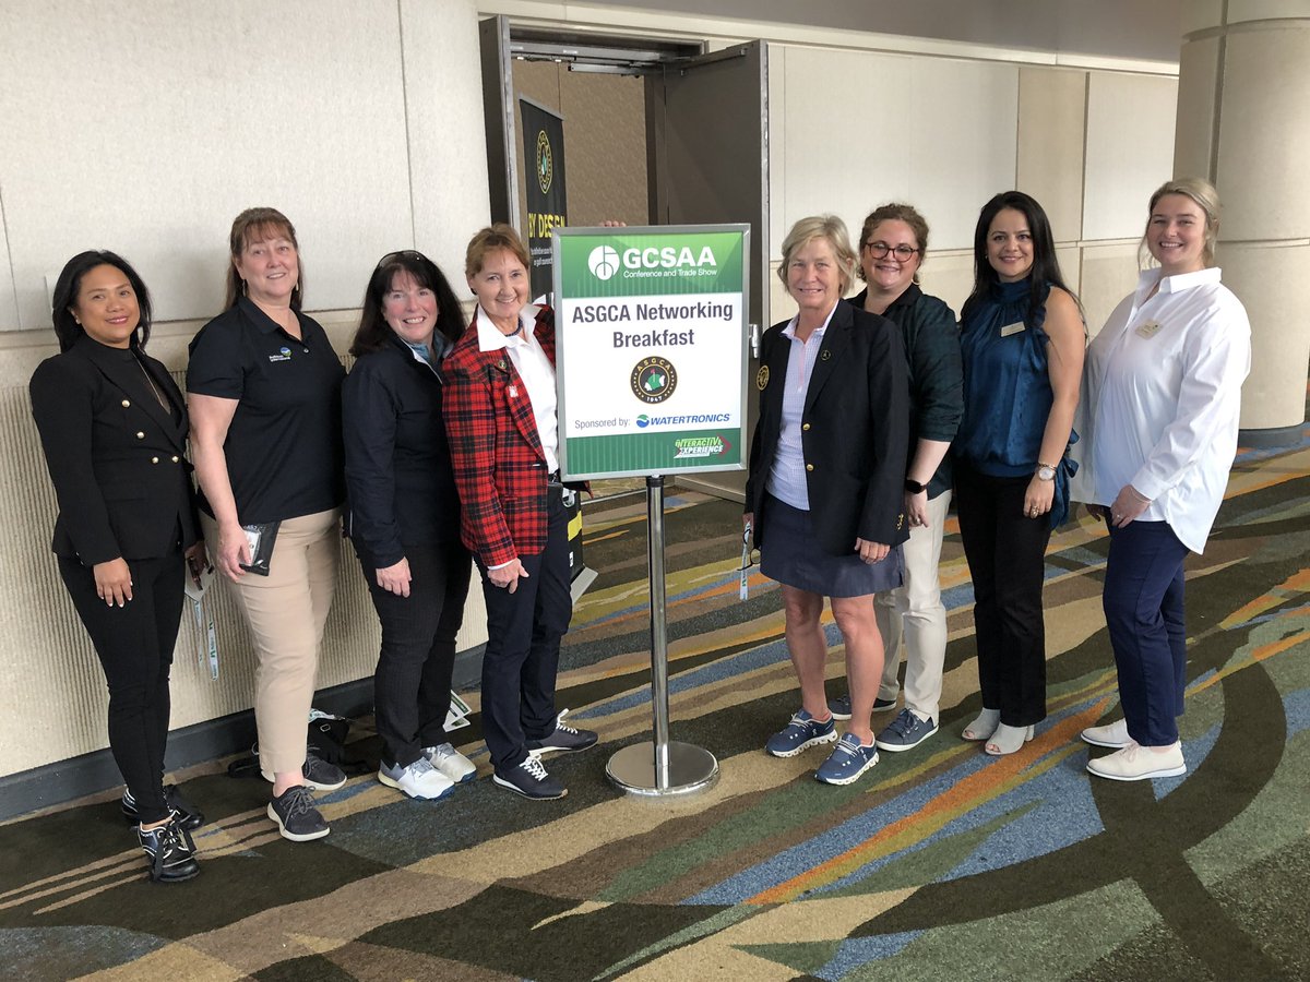
[[[1271,429],[1305,420],[1310,325],[1302,291],[1310,283],[1310,246],[1220,242],[1224,283],[1251,318],[1251,374],[1242,386],[1242,428]]]

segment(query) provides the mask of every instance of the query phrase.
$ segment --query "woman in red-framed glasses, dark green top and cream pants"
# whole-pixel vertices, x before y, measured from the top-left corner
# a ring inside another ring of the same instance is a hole
[[[946,608],[937,567],[942,558],[946,511],[951,503],[947,450],[963,412],[960,331],[955,312],[918,288],[927,250],[927,223],[908,204],[884,204],[865,219],[855,275],[867,287],[850,300],[892,321],[909,359],[910,433],[905,467],[903,583],[874,601],[883,638],[883,678],[874,711],[896,706],[900,647],[905,643],[905,707],[878,733],[878,746],[897,753],[918,746],[941,721],[942,668],[946,663]],[[850,697],[832,700],[838,719],[850,715]]]

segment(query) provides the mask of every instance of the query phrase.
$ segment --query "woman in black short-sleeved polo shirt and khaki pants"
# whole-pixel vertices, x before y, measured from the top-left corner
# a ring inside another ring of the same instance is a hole
[[[310,788],[342,771],[305,754],[318,644],[341,547],[341,381],[328,335],[300,312],[296,230],[274,208],[232,223],[227,310],[191,340],[186,388],[200,522],[236,585],[259,666],[259,763],[272,780],[269,817],[284,838],[318,839],[328,824]],[[248,571],[252,532],[274,546],[266,575]]]

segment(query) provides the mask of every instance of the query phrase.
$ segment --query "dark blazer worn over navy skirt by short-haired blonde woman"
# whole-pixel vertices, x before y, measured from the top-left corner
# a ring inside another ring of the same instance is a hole
[[[747,511],[755,542],[769,469],[782,429],[782,388],[791,342],[773,325],[760,348],[760,419],[751,440]],[[849,555],[855,538],[899,545],[909,538],[904,513],[909,445],[909,384],[900,329],[886,317],[838,302],[810,376],[802,412],[810,517],[824,551]]]

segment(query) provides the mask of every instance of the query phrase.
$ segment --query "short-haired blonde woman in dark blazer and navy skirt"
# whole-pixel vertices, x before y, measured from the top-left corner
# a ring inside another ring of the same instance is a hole
[[[846,644],[852,718],[815,778],[849,784],[878,763],[870,728],[883,672],[872,594],[900,585],[909,388],[900,330],[841,302],[855,253],[832,215],[802,219],[778,275],[800,308],[764,335],[745,521],[760,570],[782,584],[802,708],[765,749],[774,757],[837,740],[824,695],[832,601]]]

